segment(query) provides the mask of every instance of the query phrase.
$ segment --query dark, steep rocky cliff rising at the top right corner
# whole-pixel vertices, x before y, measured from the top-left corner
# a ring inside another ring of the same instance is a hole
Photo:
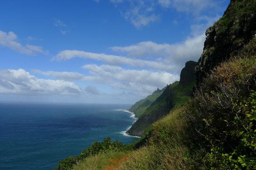
[[[223,17],[206,31],[203,54],[195,68],[197,82],[256,36],[256,0],[231,0]]]

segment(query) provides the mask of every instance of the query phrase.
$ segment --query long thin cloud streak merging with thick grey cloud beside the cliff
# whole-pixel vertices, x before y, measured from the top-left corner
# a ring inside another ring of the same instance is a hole
[[[184,42],[176,44],[157,44],[143,41],[126,47],[110,47],[115,52],[129,57],[117,55],[96,54],[79,50],[63,50],[53,59],[70,60],[75,57],[102,61],[108,65],[131,66],[140,69],[167,71],[179,74],[184,63],[189,60],[197,61],[203,52],[204,33],[188,37]],[[141,59],[136,59],[140,57]],[[143,60],[142,60],[143,59]]]

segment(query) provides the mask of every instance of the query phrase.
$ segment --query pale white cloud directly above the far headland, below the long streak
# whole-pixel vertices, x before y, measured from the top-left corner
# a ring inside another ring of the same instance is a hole
[[[124,90],[130,94],[145,97],[157,88],[179,80],[179,75],[168,72],[153,72],[148,70],[123,69],[109,65],[85,65],[84,69],[96,77],[101,77],[103,84],[115,89]]]

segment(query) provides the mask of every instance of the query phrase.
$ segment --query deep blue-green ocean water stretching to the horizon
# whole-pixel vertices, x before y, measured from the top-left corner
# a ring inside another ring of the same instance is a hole
[[[130,105],[0,103],[0,169],[50,170],[106,137],[124,144]]]

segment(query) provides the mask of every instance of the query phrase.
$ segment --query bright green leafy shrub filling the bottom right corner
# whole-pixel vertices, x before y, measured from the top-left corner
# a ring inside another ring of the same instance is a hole
[[[256,169],[256,93],[251,91],[249,98],[241,98],[233,100],[233,119],[224,119],[229,129],[224,133],[233,139],[232,149],[228,152],[220,142],[212,143],[204,159],[212,168]]]

